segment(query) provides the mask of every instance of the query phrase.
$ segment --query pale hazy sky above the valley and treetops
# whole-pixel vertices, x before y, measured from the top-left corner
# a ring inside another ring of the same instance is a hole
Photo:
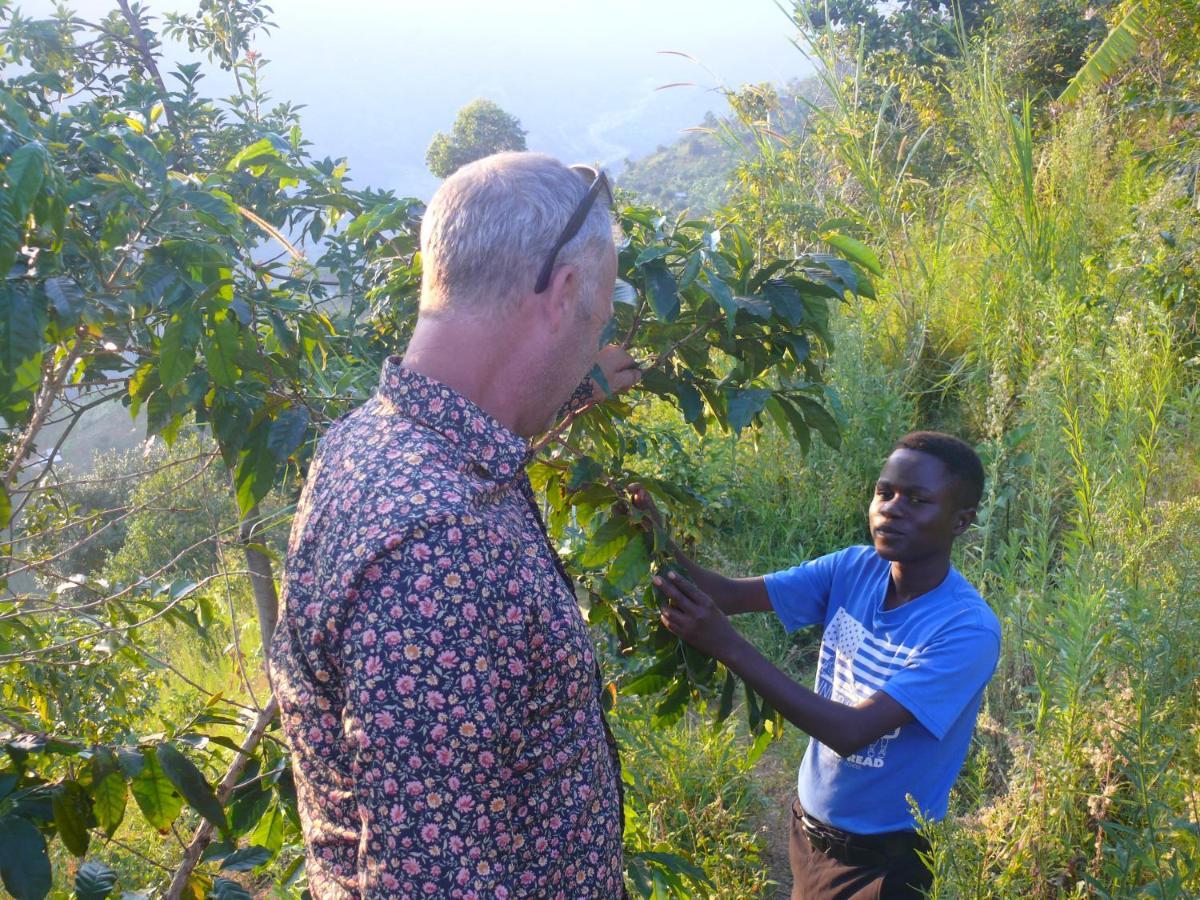
[[[50,10],[49,0],[14,5],[29,16]],[[68,5],[85,17],[115,8],[113,0]],[[185,0],[143,5],[194,8]],[[430,138],[475,97],[521,119],[530,149],[619,166],[668,143],[706,110],[722,110],[719,85],[782,83],[808,71],[775,0],[272,6],[278,28],[256,49],[271,60],[266,83],[275,98],[306,104],[306,136],[320,155],[349,157],[359,184],[419,197],[437,186],[425,168]],[[168,55],[179,52],[168,43]],[[655,90],[673,82],[698,86]]]

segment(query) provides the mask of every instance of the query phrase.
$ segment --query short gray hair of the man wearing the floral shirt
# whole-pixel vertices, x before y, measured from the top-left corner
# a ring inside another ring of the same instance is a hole
[[[505,152],[463,166],[445,180],[421,221],[421,314],[503,316],[533,290],[538,274],[588,185],[545,154]],[[612,244],[601,192],[557,264],[595,277]]]

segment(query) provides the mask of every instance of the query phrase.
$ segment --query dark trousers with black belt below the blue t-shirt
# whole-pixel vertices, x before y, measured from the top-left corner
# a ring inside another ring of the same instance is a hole
[[[919,841],[914,841],[907,851],[880,853],[866,847],[857,853],[857,835],[842,832],[850,850],[823,852],[812,846],[802,824],[802,814],[800,804],[796,803],[792,806],[788,845],[792,900],[907,900],[924,896],[932,883],[932,872],[918,856]],[[862,840],[869,844],[871,836]],[[856,858],[858,856],[865,859]]]

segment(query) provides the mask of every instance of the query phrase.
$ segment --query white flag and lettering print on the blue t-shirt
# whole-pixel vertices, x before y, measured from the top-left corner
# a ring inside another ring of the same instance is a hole
[[[838,703],[857,706],[881,690],[914,653],[916,648],[875,637],[841,607],[826,626],[821,640],[817,692]],[[870,746],[847,756],[846,762],[883,768],[888,744],[899,734],[900,728],[884,734]]]

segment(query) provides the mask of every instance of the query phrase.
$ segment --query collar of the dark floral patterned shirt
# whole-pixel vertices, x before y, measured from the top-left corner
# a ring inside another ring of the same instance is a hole
[[[493,481],[510,481],[529,461],[529,443],[440,382],[384,360],[377,396],[401,415],[438,432]]]

